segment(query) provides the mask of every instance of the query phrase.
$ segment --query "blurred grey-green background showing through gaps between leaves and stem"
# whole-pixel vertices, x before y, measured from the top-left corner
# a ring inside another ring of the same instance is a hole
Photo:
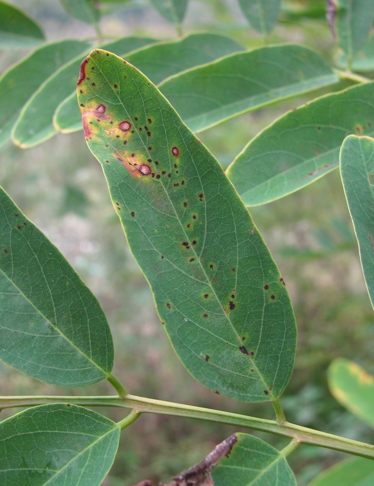
[[[95,36],[92,25],[69,17],[58,0],[13,0],[12,4],[42,26],[48,41]],[[106,15],[100,27],[107,35],[177,38],[175,27],[147,0],[101,5]],[[183,34],[231,36],[248,49],[264,42],[234,0],[190,0],[182,30]],[[330,63],[339,54],[323,0],[283,1],[279,22],[266,41],[311,47]],[[1,72],[26,54],[0,52]],[[341,82],[334,89],[344,86]],[[225,168],[262,128],[316,95],[313,92],[245,114],[199,137]],[[97,296],[112,329],[113,373],[131,394],[274,418],[269,403],[243,404],[205,389],[174,355],[148,284],[113,212],[100,165],[87,149],[82,132],[57,135],[28,150],[4,146],[0,149],[0,178],[21,210],[49,236]],[[295,370],[281,397],[287,419],[373,442],[373,432],[335,401],[326,381],[327,367],[337,357],[355,360],[374,372],[373,310],[339,174],[334,171],[287,198],[250,212],[280,267],[298,324]],[[1,365],[0,389],[1,395],[114,395],[107,382],[83,389],[57,389],[5,365]],[[124,416],[121,409],[100,412],[113,420]],[[14,410],[3,410],[1,418],[12,414]],[[116,460],[103,484],[131,486],[145,478],[168,481],[232,432],[238,430],[143,415],[122,432]],[[255,433],[278,448],[287,443],[286,439]],[[342,457],[344,454],[332,450],[303,446],[289,462],[298,484],[305,485]]]

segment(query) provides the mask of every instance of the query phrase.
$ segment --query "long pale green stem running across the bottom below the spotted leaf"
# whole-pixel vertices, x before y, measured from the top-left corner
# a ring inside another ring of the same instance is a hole
[[[13,396],[0,397],[0,409],[9,407],[30,407],[45,403],[75,403],[82,406],[124,407],[135,410],[135,413],[174,415],[179,417],[198,418],[219,422],[236,427],[283,435],[295,439],[299,444],[310,444],[327,449],[340,450],[349,454],[374,459],[374,445],[365,444],[338,435],[316,431],[292,424],[277,423],[274,420],[233,414],[221,410],[211,410],[182,403],[173,403],[142,396]]]

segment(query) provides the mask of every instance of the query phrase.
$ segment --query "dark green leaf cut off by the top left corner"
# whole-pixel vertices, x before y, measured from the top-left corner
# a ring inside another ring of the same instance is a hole
[[[34,20],[21,10],[0,1],[0,49],[30,49],[44,40]]]

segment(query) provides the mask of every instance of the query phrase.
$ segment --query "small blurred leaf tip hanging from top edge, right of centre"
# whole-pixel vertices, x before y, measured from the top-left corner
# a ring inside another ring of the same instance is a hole
[[[239,5],[250,25],[261,34],[273,29],[281,10],[281,0],[239,0]]]

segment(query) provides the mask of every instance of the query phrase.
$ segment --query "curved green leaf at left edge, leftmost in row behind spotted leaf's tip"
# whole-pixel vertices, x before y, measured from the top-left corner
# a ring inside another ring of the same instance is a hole
[[[47,44],[4,72],[0,78],[0,146],[8,142],[23,105],[39,86],[85,49],[89,49],[89,44],[77,40]]]

